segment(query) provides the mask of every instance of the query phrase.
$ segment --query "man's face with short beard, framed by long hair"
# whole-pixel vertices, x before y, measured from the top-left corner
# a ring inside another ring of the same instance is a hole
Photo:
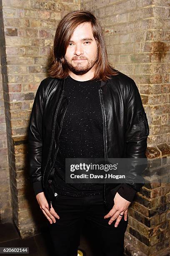
[[[89,22],[81,23],[75,28],[68,42],[65,61],[70,71],[76,75],[94,73],[97,60],[97,43]],[[92,69],[93,68],[93,69]]]

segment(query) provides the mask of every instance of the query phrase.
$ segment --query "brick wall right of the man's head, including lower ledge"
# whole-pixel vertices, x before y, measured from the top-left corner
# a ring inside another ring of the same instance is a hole
[[[169,255],[169,1],[82,0],[80,8],[92,11],[100,20],[108,59],[135,80],[150,126],[147,156],[151,162],[145,172],[148,181],[129,208],[126,252]]]

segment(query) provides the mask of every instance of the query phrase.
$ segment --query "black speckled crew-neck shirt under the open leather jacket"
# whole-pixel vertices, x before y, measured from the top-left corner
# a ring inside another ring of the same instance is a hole
[[[104,184],[65,183],[65,158],[104,158],[100,81],[65,79],[68,107],[59,137],[53,186],[61,195],[90,196],[103,193]],[[60,160],[59,160],[60,159]],[[61,161],[62,159],[62,161]]]

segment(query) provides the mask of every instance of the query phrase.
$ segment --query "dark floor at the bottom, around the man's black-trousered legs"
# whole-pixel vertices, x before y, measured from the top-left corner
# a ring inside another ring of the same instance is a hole
[[[0,247],[29,247],[31,256],[53,256],[52,244],[46,230],[47,228],[43,227],[41,234],[21,239],[12,223],[0,224]],[[85,256],[94,256],[90,243],[86,241],[84,235],[81,236],[79,248],[85,251]],[[95,255],[99,256],[100,252]]]

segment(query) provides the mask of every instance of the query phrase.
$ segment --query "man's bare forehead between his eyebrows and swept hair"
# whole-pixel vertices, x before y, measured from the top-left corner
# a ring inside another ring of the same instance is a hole
[[[91,23],[90,22],[85,22],[85,23],[81,23],[80,25],[78,25],[70,40],[72,39],[81,39],[81,38],[86,38],[86,37],[91,37],[91,38],[94,38],[93,37],[93,34],[92,34],[92,27],[91,27]]]

